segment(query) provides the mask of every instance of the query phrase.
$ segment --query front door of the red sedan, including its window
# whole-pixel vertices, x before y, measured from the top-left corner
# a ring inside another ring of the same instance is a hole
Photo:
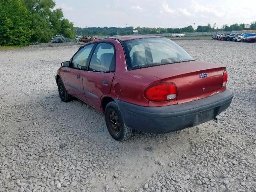
[[[86,101],[83,89],[83,74],[86,70],[88,58],[95,44],[89,44],[81,48],[72,59],[70,67],[64,73],[67,91],[80,100]]]

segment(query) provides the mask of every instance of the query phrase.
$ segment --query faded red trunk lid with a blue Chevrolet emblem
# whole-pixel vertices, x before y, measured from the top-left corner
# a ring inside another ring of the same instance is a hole
[[[141,74],[150,74],[162,82],[173,82],[177,86],[178,104],[205,98],[226,88],[222,87],[226,67],[207,62],[181,62],[138,69]]]

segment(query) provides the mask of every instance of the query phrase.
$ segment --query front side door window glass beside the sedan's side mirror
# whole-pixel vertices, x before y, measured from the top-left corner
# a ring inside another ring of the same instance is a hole
[[[85,70],[88,62],[88,57],[94,45],[95,44],[89,44],[84,48],[80,49],[73,57],[70,67]]]

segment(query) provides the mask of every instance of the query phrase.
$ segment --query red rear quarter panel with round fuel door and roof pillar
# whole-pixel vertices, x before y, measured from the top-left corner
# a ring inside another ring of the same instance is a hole
[[[144,97],[144,91],[152,84],[161,82],[160,78],[140,73],[138,70],[127,70],[126,58],[122,44],[118,40],[106,40],[112,42],[116,48],[116,72],[113,78],[110,94],[102,96],[116,98],[128,103],[140,106],[166,106],[177,104],[177,101],[149,102]],[[102,111],[104,111],[102,109]]]

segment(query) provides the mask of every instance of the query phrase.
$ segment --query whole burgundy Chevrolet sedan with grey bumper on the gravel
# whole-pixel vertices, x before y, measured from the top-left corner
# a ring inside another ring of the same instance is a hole
[[[230,105],[226,67],[198,62],[169,39],[122,36],[92,41],[63,62],[60,98],[105,114],[111,136],[167,133],[214,119]]]

